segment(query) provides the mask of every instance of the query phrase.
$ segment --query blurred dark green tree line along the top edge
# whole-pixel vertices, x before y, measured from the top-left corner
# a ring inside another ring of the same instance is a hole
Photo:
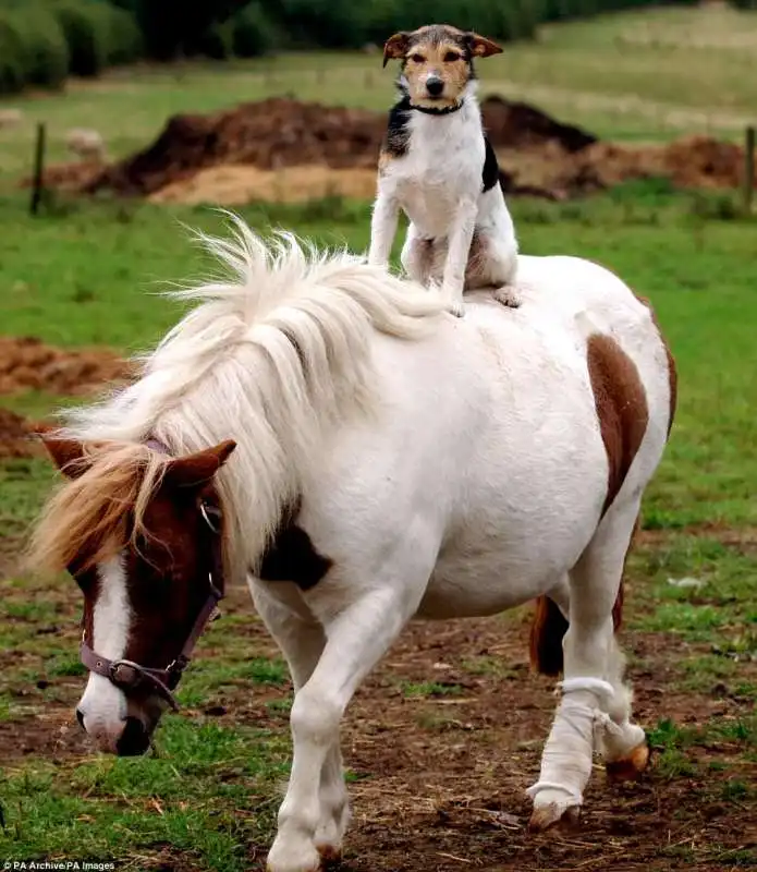
[[[679,4],[697,0],[675,0]],[[733,0],[754,8],[757,0]],[[259,57],[381,45],[448,22],[502,41],[539,24],[659,0],[0,0],[0,94],[58,87],[141,59]]]

